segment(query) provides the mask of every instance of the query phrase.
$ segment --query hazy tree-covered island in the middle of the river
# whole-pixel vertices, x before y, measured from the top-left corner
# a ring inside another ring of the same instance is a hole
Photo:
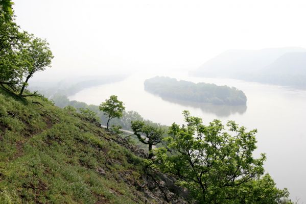
[[[246,105],[246,95],[237,88],[207,83],[177,81],[155,77],[145,81],[145,90],[161,97],[170,97],[215,105]]]

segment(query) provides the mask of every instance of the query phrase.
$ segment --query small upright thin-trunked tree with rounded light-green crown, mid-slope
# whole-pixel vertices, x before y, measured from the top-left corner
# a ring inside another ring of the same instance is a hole
[[[104,115],[108,117],[106,127],[107,130],[109,126],[109,121],[111,119],[122,117],[123,111],[125,110],[125,107],[123,105],[123,102],[118,100],[118,97],[115,95],[111,95],[109,99],[106,99],[104,103],[100,104],[100,111],[103,111]]]

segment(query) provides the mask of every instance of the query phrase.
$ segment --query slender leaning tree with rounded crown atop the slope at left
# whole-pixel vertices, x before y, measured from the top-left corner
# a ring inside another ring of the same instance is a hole
[[[35,38],[33,35],[27,35],[27,43],[22,47],[22,57],[25,62],[23,72],[26,81],[22,83],[19,96],[22,96],[23,90],[28,86],[28,81],[37,71],[43,71],[46,67],[51,67],[53,59],[49,43],[44,39]]]

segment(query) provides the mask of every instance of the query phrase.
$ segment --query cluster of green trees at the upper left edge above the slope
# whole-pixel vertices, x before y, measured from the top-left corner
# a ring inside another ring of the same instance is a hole
[[[53,55],[46,40],[19,31],[12,5],[9,0],[0,1],[0,85],[28,96],[22,95],[28,80],[36,71],[50,67]]]

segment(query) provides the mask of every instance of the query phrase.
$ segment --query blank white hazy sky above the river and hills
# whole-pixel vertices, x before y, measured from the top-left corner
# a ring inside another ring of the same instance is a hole
[[[306,47],[306,1],[15,0],[52,71],[195,69],[227,49]]]

